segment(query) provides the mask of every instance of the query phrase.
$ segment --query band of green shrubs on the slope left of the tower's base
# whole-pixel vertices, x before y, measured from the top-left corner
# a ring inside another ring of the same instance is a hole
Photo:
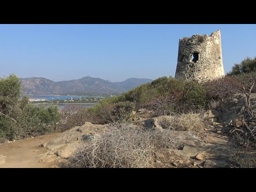
[[[205,102],[206,92],[198,81],[160,77],[122,95],[103,99],[89,110],[98,116],[98,122],[101,119],[102,124],[119,118],[129,119],[133,108],[146,107],[155,110],[158,116],[170,115],[174,111],[195,110],[204,106]]]

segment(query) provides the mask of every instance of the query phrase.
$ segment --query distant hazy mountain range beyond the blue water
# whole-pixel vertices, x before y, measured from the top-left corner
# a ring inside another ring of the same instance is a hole
[[[95,95],[123,93],[152,79],[129,78],[123,82],[106,81],[100,78],[83,77],[70,81],[54,82],[43,77],[20,78],[25,94],[33,95]]]

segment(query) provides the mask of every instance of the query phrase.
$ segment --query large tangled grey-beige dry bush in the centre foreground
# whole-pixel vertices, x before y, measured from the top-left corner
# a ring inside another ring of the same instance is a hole
[[[163,148],[181,145],[171,132],[143,131],[132,124],[114,124],[113,129],[94,137],[76,151],[71,162],[75,167],[151,167],[154,154]]]

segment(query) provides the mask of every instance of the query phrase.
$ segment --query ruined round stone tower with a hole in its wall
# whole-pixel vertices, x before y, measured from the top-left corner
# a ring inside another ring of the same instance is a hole
[[[180,39],[175,78],[202,82],[223,75],[220,30],[210,36],[193,35]]]

